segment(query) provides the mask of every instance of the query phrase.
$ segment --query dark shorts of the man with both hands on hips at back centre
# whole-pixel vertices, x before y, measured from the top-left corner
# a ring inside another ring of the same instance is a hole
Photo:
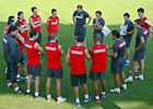
[[[74,29],[74,36],[79,37],[79,36],[86,36],[86,27],[75,27]]]

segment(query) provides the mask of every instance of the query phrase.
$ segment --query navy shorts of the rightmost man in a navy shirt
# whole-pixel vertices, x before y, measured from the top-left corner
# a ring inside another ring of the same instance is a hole
[[[133,61],[141,61],[145,57],[146,49],[140,49],[139,51],[134,51]]]

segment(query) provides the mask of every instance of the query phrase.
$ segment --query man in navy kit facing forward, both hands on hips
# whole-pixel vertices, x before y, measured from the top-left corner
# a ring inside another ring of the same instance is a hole
[[[83,11],[82,5],[76,7],[78,10],[74,11],[72,19],[75,26],[74,29],[74,45],[76,45],[76,39],[79,36],[85,37],[86,35],[86,26],[90,24],[92,16],[85,11]],[[75,17],[75,20],[74,20]],[[86,17],[89,17],[89,22],[86,23]]]

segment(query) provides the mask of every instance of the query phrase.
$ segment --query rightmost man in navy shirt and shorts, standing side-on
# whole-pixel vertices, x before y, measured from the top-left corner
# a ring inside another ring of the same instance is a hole
[[[149,34],[148,29],[143,27],[143,22],[141,20],[134,21],[134,27],[138,29],[136,37],[136,51],[132,60],[132,69],[130,76],[126,80],[126,82],[132,82],[133,74],[136,69],[138,68],[138,63],[140,64],[140,75],[136,76],[143,81],[143,71],[144,71],[144,57],[146,50],[146,41],[151,38],[151,34]]]

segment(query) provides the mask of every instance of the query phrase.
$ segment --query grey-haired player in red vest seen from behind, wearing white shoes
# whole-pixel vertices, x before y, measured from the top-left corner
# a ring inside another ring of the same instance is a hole
[[[60,56],[63,57],[64,52],[60,45],[57,45],[56,41],[58,40],[58,33],[52,32],[50,35],[51,40],[45,45],[45,50],[48,57],[47,62],[47,83],[46,83],[46,90],[47,90],[47,101],[51,100],[50,95],[50,83],[54,76],[56,76],[57,81],[57,104],[63,102],[67,98],[61,97],[61,78],[63,77],[63,70],[60,62]]]

